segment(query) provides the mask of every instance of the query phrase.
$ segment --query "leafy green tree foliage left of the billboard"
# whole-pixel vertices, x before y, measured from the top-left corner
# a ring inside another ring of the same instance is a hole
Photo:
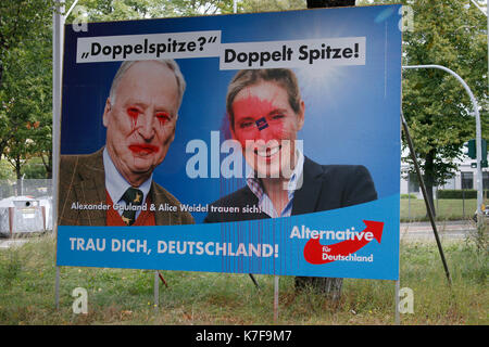
[[[9,38],[1,53],[0,153],[14,163],[17,178],[25,159],[36,155],[47,155],[46,171],[51,176],[51,9],[50,1],[42,4],[48,9],[38,9],[38,13],[46,15],[45,21],[27,12],[34,18],[20,18],[18,25],[33,23],[37,27],[14,30],[17,39]]]

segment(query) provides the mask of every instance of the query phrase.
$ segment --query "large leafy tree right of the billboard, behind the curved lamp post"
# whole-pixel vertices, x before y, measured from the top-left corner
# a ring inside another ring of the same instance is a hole
[[[375,1],[392,2],[398,1]],[[414,18],[411,29],[403,33],[403,65],[442,65],[460,75],[478,101],[482,138],[488,138],[486,16],[468,0],[404,0],[402,3],[411,8]],[[434,206],[434,187],[453,177],[457,159],[463,158],[463,143],[475,138],[473,105],[462,85],[438,69],[404,70],[402,91],[404,117],[428,201]],[[406,146],[403,141],[403,147]],[[410,172],[413,172],[411,157],[403,160],[411,164]]]

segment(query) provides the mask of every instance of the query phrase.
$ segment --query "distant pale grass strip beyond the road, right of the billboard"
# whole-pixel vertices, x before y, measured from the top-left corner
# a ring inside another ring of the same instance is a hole
[[[435,201],[437,220],[471,219],[477,209],[477,200],[440,198]],[[426,221],[424,200],[401,198],[401,221]]]

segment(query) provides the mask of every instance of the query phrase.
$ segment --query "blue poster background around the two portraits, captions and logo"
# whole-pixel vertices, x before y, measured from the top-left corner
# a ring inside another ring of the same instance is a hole
[[[180,239],[188,235],[195,237],[195,241],[218,241],[223,230],[231,228],[201,224],[205,214],[193,213],[198,226],[145,227],[142,230],[136,227],[129,230],[115,228],[118,229],[116,231],[112,231],[114,229],[111,227],[60,226],[58,265],[225,272],[253,270],[259,273],[397,279],[401,152],[399,9],[399,5],[379,5],[93,23],[88,25],[88,31],[78,33],[71,25],[65,26],[61,154],[87,154],[104,145],[103,107],[111,81],[121,64],[77,64],[76,47],[80,37],[199,30],[221,30],[222,43],[365,37],[365,65],[293,69],[305,102],[305,123],[298,138],[303,140],[304,154],[316,163],[364,165],[374,179],[378,201],[340,210],[285,218],[287,221],[281,221],[281,218],[280,221],[269,220],[262,222],[262,228],[278,230],[284,222],[297,222],[329,229],[358,226],[356,230],[362,230],[363,219],[381,220],[385,222],[381,246],[373,241],[361,250],[368,253],[372,248],[374,262],[309,265],[300,256],[303,244],[289,244],[287,232],[290,230],[285,227],[278,233],[281,237],[272,240],[271,243],[278,244],[279,249],[294,250],[290,250],[287,256],[280,253],[279,260],[288,266],[278,268],[275,265],[261,266],[254,261],[249,267],[244,265],[246,261],[242,261],[243,265],[226,265],[227,261],[235,261],[236,257],[230,260],[225,257],[227,260],[223,260],[223,257],[211,256],[202,261],[202,257],[156,257],[153,253],[152,257],[139,256],[135,260],[135,255],[129,253],[114,256],[109,252],[79,252],[68,247],[70,237],[89,237],[102,233],[109,237],[112,232],[122,233],[128,239],[148,236],[152,240],[148,241],[151,243],[155,243],[158,237],[166,240],[168,235]],[[180,203],[210,204],[246,183],[242,179],[189,178],[186,164],[193,154],[186,153],[185,149],[195,139],[203,140],[211,147],[211,131],[221,131],[221,139],[225,139],[225,97],[228,82],[236,70],[220,70],[217,56],[179,59],[177,63],[186,78],[187,90],[179,110],[175,141],[164,162],[155,169],[153,179]],[[241,222],[239,228],[253,228],[250,223],[252,222]],[[268,258],[267,261],[275,264],[278,258]]]

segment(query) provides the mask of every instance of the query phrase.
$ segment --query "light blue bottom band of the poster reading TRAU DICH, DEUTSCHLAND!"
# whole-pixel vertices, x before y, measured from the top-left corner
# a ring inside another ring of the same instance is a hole
[[[390,197],[336,211],[236,223],[130,228],[60,226],[58,265],[396,280],[399,275],[399,222],[394,219],[385,222],[380,243],[371,241],[353,254],[355,259],[325,265],[308,264],[303,249],[310,239],[290,239],[290,235],[296,226],[299,230],[302,227],[323,230],[325,226],[346,230],[347,226],[350,230],[362,231],[365,223],[352,216],[385,220],[397,201],[399,198]],[[171,242],[173,250],[170,250]],[[201,254],[198,242],[202,243]],[[322,245],[336,242],[321,241]],[[244,252],[238,250],[239,244],[244,245]],[[254,248],[269,246],[262,248],[261,256],[250,256],[249,244]]]

